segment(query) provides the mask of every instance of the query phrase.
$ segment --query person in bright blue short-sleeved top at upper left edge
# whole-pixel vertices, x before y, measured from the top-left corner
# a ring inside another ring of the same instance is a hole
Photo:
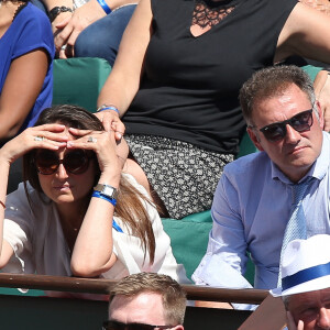
[[[0,146],[52,105],[54,41],[47,16],[28,1],[0,0]]]

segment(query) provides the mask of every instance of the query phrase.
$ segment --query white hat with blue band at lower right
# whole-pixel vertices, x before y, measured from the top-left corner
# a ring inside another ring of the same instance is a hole
[[[330,235],[289,242],[280,268],[282,287],[271,290],[274,297],[330,287]]]

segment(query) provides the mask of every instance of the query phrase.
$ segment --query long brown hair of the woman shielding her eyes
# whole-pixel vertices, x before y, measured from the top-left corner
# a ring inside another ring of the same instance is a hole
[[[79,130],[105,130],[102,123],[96,116],[84,108],[69,105],[55,106],[45,109],[40,114],[35,127],[47,123],[61,123],[67,128]],[[43,194],[34,163],[35,151],[36,150],[32,150],[23,156],[23,179],[29,200],[26,182],[29,182],[40,195]],[[97,168],[96,183],[100,176],[100,169],[98,166]],[[148,251],[151,263],[153,263],[155,255],[155,237],[143,202],[150,202],[150,200],[147,200],[122,176],[118,189],[118,202],[114,215],[122,219],[123,223],[131,230],[133,235],[141,239],[144,252],[146,252],[146,250]]]

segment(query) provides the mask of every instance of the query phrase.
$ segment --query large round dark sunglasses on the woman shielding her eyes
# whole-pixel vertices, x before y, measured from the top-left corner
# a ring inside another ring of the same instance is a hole
[[[40,174],[51,175],[54,174],[59,164],[63,164],[65,170],[72,174],[82,174],[87,170],[89,158],[84,150],[73,150],[59,160],[57,153],[50,150],[40,150],[36,152],[34,163]]]

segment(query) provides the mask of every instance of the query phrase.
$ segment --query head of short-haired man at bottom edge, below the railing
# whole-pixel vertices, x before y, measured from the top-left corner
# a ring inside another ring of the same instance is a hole
[[[119,280],[110,292],[103,330],[184,329],[186,294],[173,278],[140,273]]]

